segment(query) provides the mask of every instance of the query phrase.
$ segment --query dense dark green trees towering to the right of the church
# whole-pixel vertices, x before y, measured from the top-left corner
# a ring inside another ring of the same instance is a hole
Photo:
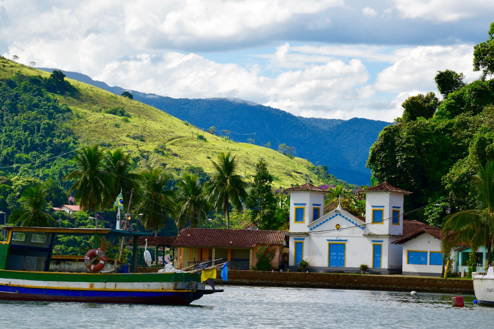
[[[471,194],[470,178],[494,159],[494,23],[490,37],[474,47],[480,79],[465,83],[462,73],[438,72],[443,100],[433,92],[408,98],[397,124],[385,127],[371,147],[374,177],[413,192],[405,197],[405,211],[426,206],[409,219],[438,226],[445,213],[436,203],[450,207],[451,196],[457,211],[480,201]]]

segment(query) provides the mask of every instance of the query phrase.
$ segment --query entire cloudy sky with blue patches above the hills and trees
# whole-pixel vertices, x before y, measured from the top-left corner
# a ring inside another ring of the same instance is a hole
[[[473,72],[492,0],[0,0],[0,54],[174,98],[393,121]]]

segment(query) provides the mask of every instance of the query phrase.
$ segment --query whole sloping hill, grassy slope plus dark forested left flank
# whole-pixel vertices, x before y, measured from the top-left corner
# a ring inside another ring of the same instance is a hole
[[[67,204],[67,190],[74,182],[63,177],[77,168],[74,151],[94,143],[130,154],[132,172],[164,169],[171,176],[167,188],[175,188],[184,174],[208,180],[214,172],[211,159],[223,151],[236,155],[238,174],[247,176],[247,184],[252,183],[256,163],[263,158],[276,189],[307,181],[349,187],[329,175],[324,166],[314,166],[306,159],[208,132],[198,134],[197,127],[162,110],[66,79],[61,72],[46,73],[3,57],[0,106],[0,211],[7,217],[22,207],[21,196],[28,186],[47,189],[47,211]],[[60,214],[52,213],[60,226],[91,224],[87,213],[70,220]],[[99,215],[105,227],[115,218],[111,211]],[[160,235],[176,234],[173,220],[169,221],[163,228],[168,231]]]

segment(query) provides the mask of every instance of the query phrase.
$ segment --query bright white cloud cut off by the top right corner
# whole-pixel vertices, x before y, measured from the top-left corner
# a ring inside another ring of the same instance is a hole
[[[438,22],[453,22],[477,16],[494,9],[492,0],[394,0],[404,18],[423,18]]]

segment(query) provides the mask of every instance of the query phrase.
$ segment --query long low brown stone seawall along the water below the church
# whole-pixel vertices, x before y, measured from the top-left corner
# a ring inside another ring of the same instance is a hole
[[[218,271],[215,280],[215,283],[219,285],[474,293],[473,282],[468,279],[230,270],[228,271],[228,282],[224,282],[219,274]]]

